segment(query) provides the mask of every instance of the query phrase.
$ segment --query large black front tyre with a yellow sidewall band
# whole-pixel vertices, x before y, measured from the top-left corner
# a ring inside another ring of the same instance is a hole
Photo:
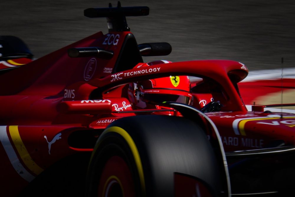
[[[174,196],[175,178],[187,176],[207,195],[219,196],[225,190],[220,183],[221,163],[204,130],[191,120],[165,115],[121,118],[110,124],[96,143],[87,194],[109,195],[105,185],[112,187],[108,180],[116,177],[113,189],[119,188],[122,196]],[[121,175],[122,171],[127,175]]]

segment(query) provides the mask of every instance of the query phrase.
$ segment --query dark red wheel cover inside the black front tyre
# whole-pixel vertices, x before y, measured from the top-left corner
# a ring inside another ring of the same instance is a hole
[[[112,156],[106,161],[99,180],[98,196],[135,196],[132,174],[122,157]]]

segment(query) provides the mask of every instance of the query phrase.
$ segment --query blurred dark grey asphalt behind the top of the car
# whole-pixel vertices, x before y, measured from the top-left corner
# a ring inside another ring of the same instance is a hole
[[[110,0],[1,0],[0,35],[15,35],[40,58],[97,31],[107,33],[105,18],[87,18],[83,10],[108,7]],[[150,15],[127,17],[137,43],[168,42],[169,56],[186,61],[231,59],[249,70],[295,67],[295,1],[292,0],[122,0],[148,6]]]

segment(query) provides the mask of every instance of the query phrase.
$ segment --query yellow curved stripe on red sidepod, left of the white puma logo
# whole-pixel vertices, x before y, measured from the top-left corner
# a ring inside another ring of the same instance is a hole
[[[17,152],[19,156],[22,158],[24,164],[34,174],[39,175],[43,171],[43,169],[34,162],[29,152],[27,151],[27,148],[24,146],[24,143],[22,142],[22,139],[19,135],[18,126],[9,126],[9,133],[14,143],[14,146],[17,149]]]

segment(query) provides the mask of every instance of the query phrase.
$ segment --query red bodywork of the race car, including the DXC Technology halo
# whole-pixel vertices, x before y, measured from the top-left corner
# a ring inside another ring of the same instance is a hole
[[[222,111],[206,115],[217,126],[225,151],[266,148],[278,139],[294,145],[294,114],[247,111],[237,91],[237,82],[248,74],[245,65],[198,60],[132,69],[135,65],[118,63],[128,41],[135,41],[129,31],[99,32],[1,75],[0,83],[5,84],[0,87],[3,196],[19,194],[61,159],[93,151],[93,144],[82,146],[84,139],[73,138],[74,133],[95,130],[96,139],[111,122],[142,113],[126,91],[129,83],[142,79],[189,75],[214,82],[221,92],[191,94],[193,106],[199,109],[211,98],[222,103]],[[78,47],[99,47],[114,55],[111,59],[69,57],[68,49]],[[192,83],[191,89],[199,84]]]

